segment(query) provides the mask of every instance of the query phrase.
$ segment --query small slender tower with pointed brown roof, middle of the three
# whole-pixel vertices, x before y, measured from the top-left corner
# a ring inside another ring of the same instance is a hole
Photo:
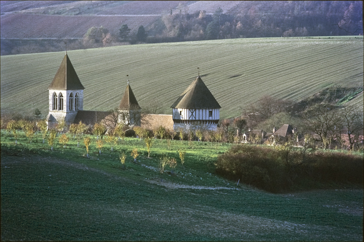
[[[117,110],[118,122],[130,126],[140,126],[142,109],[138,101],[136,101],[132,88],[129,85],[129,80]]]

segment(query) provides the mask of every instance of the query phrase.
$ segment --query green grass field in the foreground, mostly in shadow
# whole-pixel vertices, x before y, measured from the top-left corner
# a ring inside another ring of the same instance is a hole
[[[75,140],[50,151],[1,131],[2,241],[362,241],[363,190],[337,187],[271,194],[214,173],[230,145],[125,138],[125,170],[105,144],[90,158]],[[137,164],[130,151],[138,148]],[[177,154],[186,149],[181,166]],[[161,182],[162,153],[178,159]]]

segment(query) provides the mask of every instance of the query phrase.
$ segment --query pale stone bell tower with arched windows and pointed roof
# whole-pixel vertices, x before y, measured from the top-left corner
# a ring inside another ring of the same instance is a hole
[[[48,128],[65,119],[73,123],[77,112],[83,110],[83,89],[80,79],[66,53],[53,78],[49,90]]]

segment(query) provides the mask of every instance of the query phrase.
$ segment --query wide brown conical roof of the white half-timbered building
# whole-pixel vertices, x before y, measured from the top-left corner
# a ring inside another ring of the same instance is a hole
[[[196,80],[187,87],[172,108],[221,108],[216,99],[198,76]]]

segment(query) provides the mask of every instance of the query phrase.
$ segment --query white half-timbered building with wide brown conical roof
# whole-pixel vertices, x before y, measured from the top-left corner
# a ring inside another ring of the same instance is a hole
[[[182,92],[171,108],[174,131],[180,128],[217,130],[221,106],[200,76]]]

